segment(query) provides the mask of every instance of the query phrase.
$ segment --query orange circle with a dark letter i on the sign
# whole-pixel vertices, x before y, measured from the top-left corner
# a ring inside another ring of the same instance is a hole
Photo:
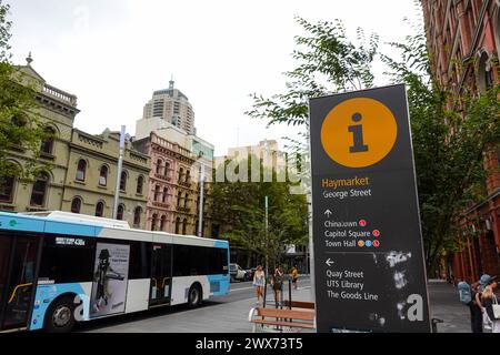
[[[394,114],[380,101],[343,101],[326,116],[321,144],[331,160],[348,168],[366,168],[383,160],[396,144]]]

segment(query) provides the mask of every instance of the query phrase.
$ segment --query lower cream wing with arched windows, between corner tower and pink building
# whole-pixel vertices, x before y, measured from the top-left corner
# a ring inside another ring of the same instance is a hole
[[[120,132],[92,135],[73,129],[61,211],[112,217]],[[117,219],[146,227],[149,159],[126,141]]]

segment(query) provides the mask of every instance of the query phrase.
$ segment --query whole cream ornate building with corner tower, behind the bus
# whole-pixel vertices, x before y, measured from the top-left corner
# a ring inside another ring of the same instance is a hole
[[[32,183],[21,183],[16,176],[2,179],[0,210],[66,211],[111,217],[120,133],[107,130],[93,135],[74,129],[74,118],[80,112],[77,97],[49,85],[31,67],[31,55],[27,61],[27,65],[18,67],[21,82],[34,88],[34,114],[51,133],[40,143],[38,160],[50,163],[51,169],[40,172]],[[16,146],[9,152],[9,161],[21,166],[37,163],[32,154]],[[146,226],[148,176],[148,156],[134,151],[128,141],[118,217],[139,229]]]

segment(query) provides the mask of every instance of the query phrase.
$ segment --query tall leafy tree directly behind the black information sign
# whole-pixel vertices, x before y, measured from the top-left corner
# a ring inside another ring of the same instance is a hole
[[[378,37],[368,44],[353,44],[340,21],[311,24],[298,19],[310,34],[297,37],[301,49],[292,57],[299,62],[286,72],[288,91],[270,99],[254,95],[248,114],[269,124],[308,125],[308,99],[346,90],[370,88],[371,64]],[[358,30],[358,43],[363,41]],[[462,92],[460,99],[440,88],[430,74],[426,37],[408,37],[392,43],[398,60],[382,55],[389,74],[408,87],[422,232],[428,272],[431,274],[443,252],[459,246],[453,225],[463,209],[477,202],[478,185],[484,181],[482,154],[500,136],[499,88],[477,95]],[[301,148],[303,151],[303,148]]]

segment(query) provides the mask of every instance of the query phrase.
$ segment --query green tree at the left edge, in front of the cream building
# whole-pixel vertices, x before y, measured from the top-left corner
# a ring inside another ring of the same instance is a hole
[[[9,4],[0,0],[0,179],[19,176],[28,181],[40,170],[50,168],[37,161],[40,143],[48,134],[36,111],[36,91],[19,68],[10,63],[9,9]],[[23,166],[12,164],[8,160],[12,149],[32,159]]]

